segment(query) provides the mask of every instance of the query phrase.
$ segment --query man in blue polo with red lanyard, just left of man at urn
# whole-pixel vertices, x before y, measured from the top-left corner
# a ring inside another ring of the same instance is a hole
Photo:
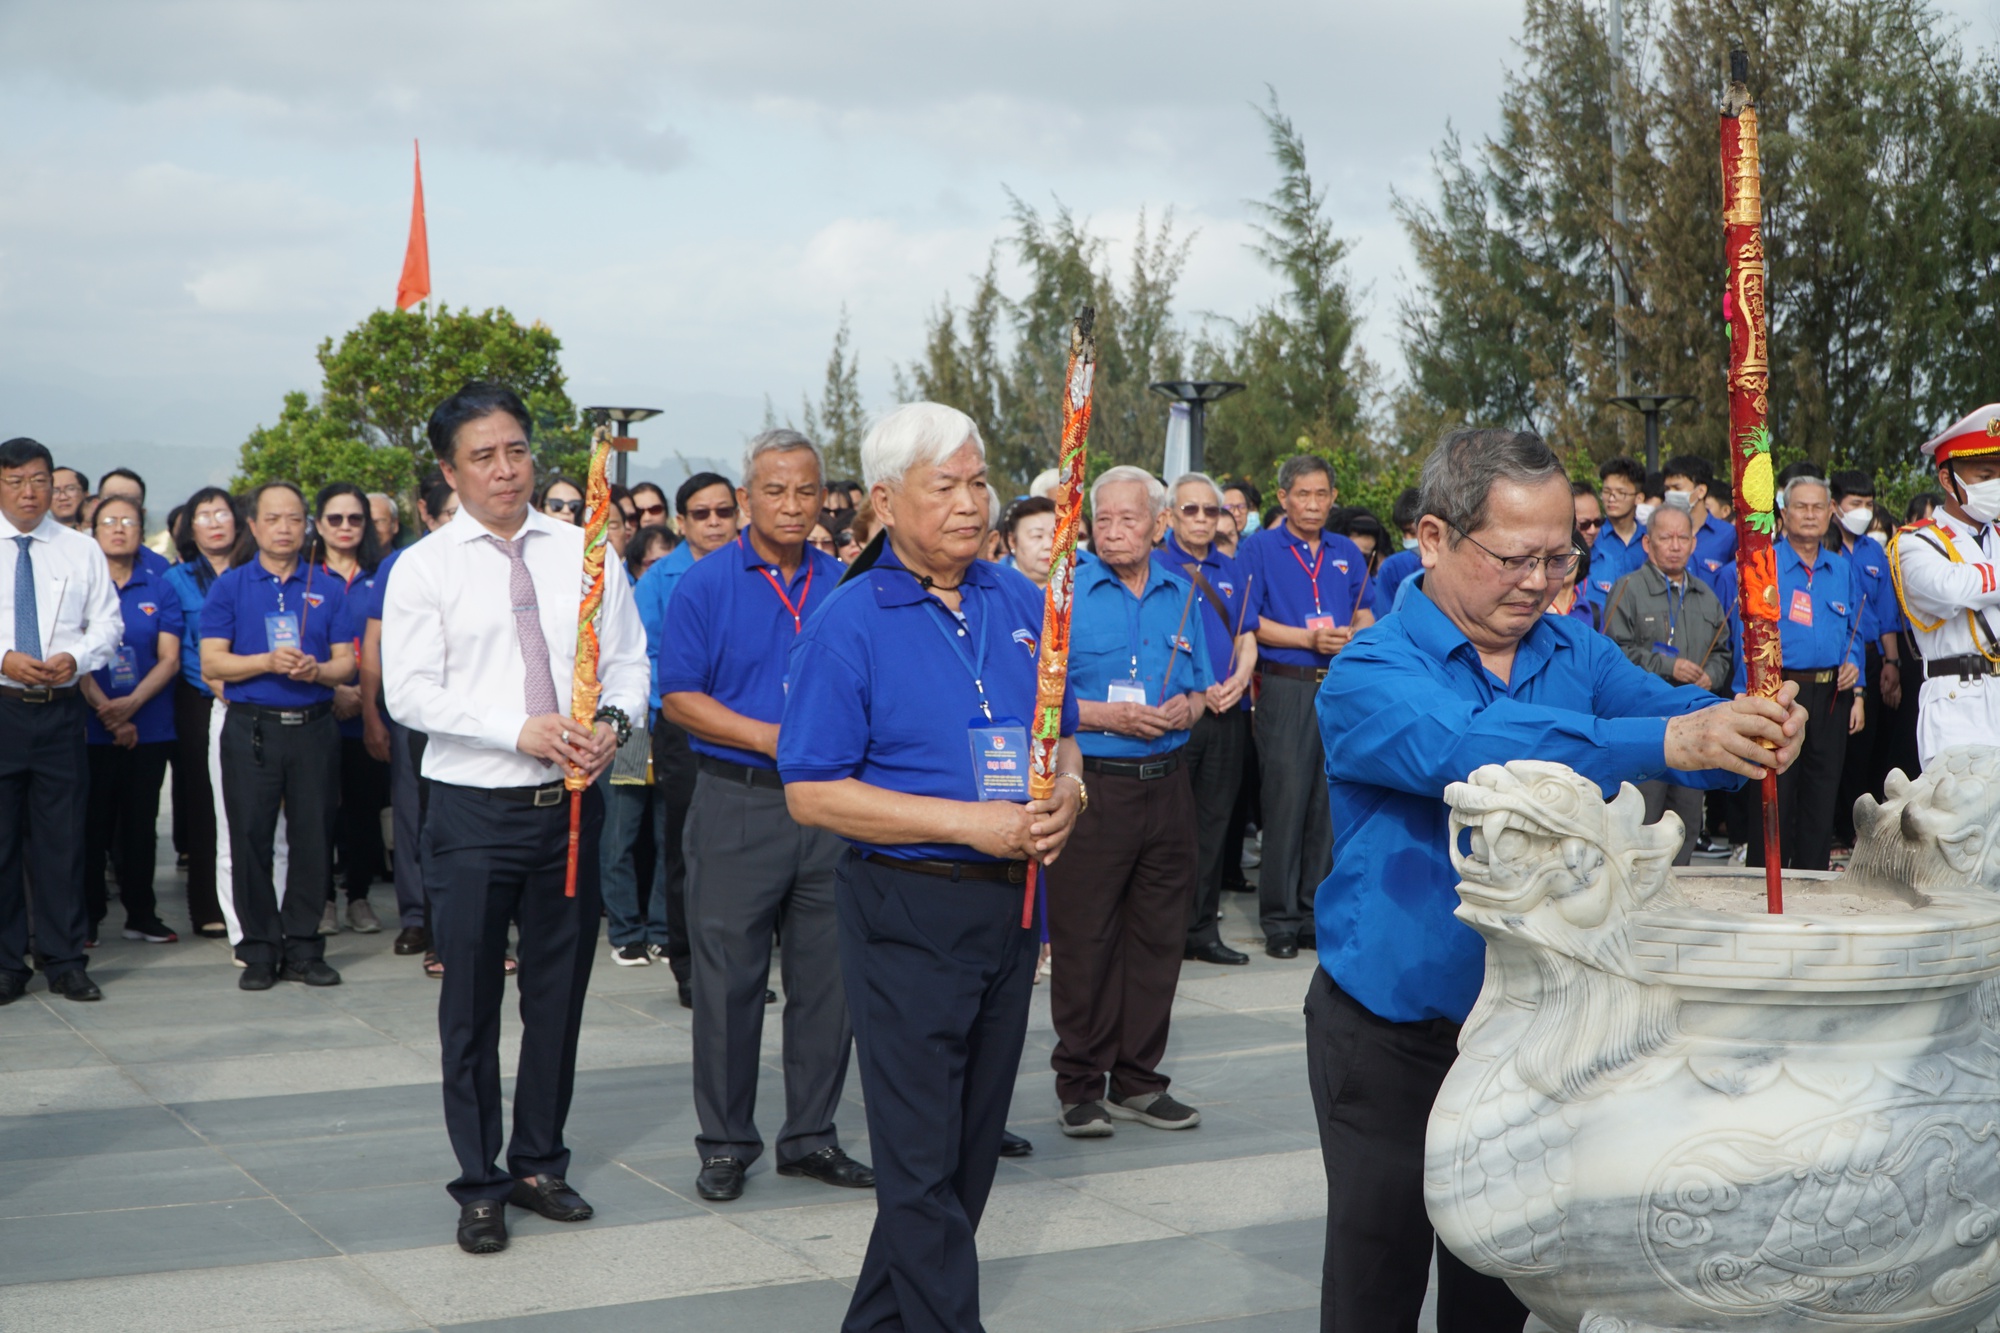
[[[1296,959],[1312,947],[1312,895],[1326,879],[1334,831],[1326,815],[1326,755],[1312,725],[1312,697],[1326,664],[1354,632],[1374,624],[1368,562],[1360,546],[1326,532],[1340,496],[1324,460],[1286,458],[1278,468],[1284,522],[1252,532],[1236,562],[1252,584],[1258,662],[1256,755],[1264,785],[1264,863],[1258,915],[1264,953]]]

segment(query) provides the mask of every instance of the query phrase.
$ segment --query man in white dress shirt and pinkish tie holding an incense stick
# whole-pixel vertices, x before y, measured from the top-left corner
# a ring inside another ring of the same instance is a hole
[[[576,1033],[598,939],[604,799],[584,793],[576,897],[566,765],[592,783],[646,709],[646,632],[626,580],[604,580],[592,731],[570,721],[584,532],[530,506],[528,408],[508,388],[466,384],[430,414],[430,446],[458,490],[458,516],[410,546],[382,602],[390,715],[426,733],[424,885],[444,963],[438,1037],[444,1125],[460,1175],[458,1245],[506,1249],[506,1205],[584,1221],[568,1187],[562,1125]],[[520,1065],[514,1135],[500,1157],[500,1005],[508,923],[520,923]]]

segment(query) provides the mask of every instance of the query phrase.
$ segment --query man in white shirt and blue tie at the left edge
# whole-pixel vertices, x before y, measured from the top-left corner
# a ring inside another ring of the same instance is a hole
[[[90,775],[76,681],[110,664],[124,620],[104,552],[48,512],[54,476],[36,440],[0,444],[0,1005],[28,989],[30,891],[48,989],[104,999],[84,973]]]

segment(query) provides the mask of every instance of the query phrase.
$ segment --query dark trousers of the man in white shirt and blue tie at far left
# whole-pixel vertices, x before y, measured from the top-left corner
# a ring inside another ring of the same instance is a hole
[[[50,977],[84,971],[84,699],[0,699],[0,973],[28,977],[34,951]]]

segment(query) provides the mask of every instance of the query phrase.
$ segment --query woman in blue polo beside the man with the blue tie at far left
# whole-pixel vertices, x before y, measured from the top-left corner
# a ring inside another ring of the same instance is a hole
[[[118,875],[126,907],[126,939],[172,945],[178,935],[160,921],[152,893],[154,827],[160,823],[160,783],[174,749],[174,701],[168,687],[180,671],[184,622],[166,580],[138,562],[146,512],[122,494],[98,502],[92,530],[118,584],[124,636],[110,666],[78,681],[94,713],[84,723],[90,747],[90,811],[84,841],[84,893],[90,941],[98,939],[110,903],[104,859]]]

